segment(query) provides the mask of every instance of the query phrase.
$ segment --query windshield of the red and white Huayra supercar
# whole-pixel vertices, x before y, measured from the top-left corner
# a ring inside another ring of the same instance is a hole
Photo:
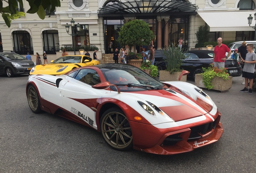
[[[164,86],[139,68],[104,69],[102,72],[105,79],[118,86],[120,91],[144,91],[161,89]],[[113,86],[111,89],[116,91]]]

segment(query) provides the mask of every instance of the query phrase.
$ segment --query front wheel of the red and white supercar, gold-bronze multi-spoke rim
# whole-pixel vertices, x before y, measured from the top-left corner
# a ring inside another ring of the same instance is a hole
[[[100,121],[101,135],[105,142],[119,151],[132,148],[132,130],[124,112],[113,107],[105,111]]]

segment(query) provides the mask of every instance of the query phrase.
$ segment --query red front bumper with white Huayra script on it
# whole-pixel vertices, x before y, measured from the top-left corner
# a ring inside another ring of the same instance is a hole
[[[173,155],[193,151],[220,139],[223,134],[223,127],[219,120],[220,115],[214,122],[191,128],[175,128],[173,131],[142,125],[140,132],[145,133],[147,131],[149,134],[140,133],[139,137],[138,134],[133,133],[134,149],[159,155]]]

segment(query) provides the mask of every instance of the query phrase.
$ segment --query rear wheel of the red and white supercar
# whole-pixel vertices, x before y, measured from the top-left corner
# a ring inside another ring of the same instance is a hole
[[[27,101],[33,113],[41,112],[39,96],[33,85],[29,85],[27,89]]]

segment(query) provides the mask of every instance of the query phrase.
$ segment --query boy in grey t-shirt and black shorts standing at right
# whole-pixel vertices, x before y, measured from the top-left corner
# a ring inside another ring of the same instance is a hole
[[[244,68],[243,68],[243,75],[244,77],[244,89],[240,90],[240,92],[248,92],[248,94],[252,94],[252,83],[253,83],[253,75],[254,75],[254,68],[256,63],[256,54],[254,53],[253,44],[247,44],[246,50],[248,53],[246,54],[246,59],[242,59],[242,62],[244,62]],[[248,91],[248,80],[250,82],[250,88]]]

